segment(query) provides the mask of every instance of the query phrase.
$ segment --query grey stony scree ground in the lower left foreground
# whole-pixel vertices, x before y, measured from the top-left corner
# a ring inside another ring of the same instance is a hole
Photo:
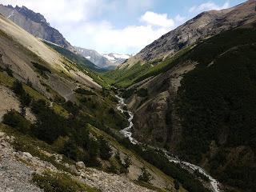
[[[64,163],[62,162],[62,155],[50,154],[45,151],[44,154],[55,158],[55,162],[66,166],[70,170],[70,173],[74,174],[58,170],[50,162],[33,157],[30,153],[15,151],[11,146],[14,140],[14,137],[9,137],[5,133],[0,132],[0,191],[41,192],[43,190],[35,186],[31,180],[34,173],[43,174],[46,171],[68,174],[76,181],[82,182],[87,186],[95,187],[102,192],[152,191],[135,185],[134,182],[131,182],[126,177],[87,168],[82,162],[77,162],[76,165]]]

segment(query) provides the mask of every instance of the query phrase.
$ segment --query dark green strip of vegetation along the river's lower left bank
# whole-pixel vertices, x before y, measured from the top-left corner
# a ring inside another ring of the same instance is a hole
[[[182,169],[181,166],[169,162],[169,160],[166,159],[161,153],[152,150],[151,148],[147,148],[146,146],[142,147],[139,145],[133,145],[130,143],[129,139],[120,137],[110,130],[104,131],[107,134],[90,126],[91,133],[94,133],[94,135],[97,137],[103,136],[111,143],[111,145],[117,147],[118,150],[126,151],[126,154],[135,154],[136,157],[141,159],[144,165],[150,167],[150,169],[154,170],[154,166],[157,167],[159,170],[162,170],[164,174],[170,176],[171,178],[177,179],[178,182],[182,184],[182,187],[184,187],[186,190],[190,192],[210,192],[210,190],[206,190],[205,187],[202,186],[202,183],[199,182],[197,178],[194,178],[193,174],[190,174],[190,172]],[[132,153],[129,153],[126,149],[129,149],[132,151]],[[118,154],[115,154],[115,158],[118,159],[118,156]]]

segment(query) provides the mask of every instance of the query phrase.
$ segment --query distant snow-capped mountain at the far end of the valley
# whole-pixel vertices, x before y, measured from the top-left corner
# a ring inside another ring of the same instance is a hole
[[[96,50],[87,50],[81,47],[76,47],[76,50],[90,62],[105,69],[114,69],[130,58],[129,54],[99,54]]]

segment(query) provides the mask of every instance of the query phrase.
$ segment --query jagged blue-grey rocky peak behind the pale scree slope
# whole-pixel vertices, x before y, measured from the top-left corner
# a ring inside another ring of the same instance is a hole
[[[34,11],[29,10],[26,6],[13,7],[0,5],[0,14],[9,18],[12,22],[16,23],[37,38],[54,42],[58,46],[62,46],[68,50],[74,50],[74,47],[66,41],[58,30],[55,30],[50,26],[42,14],[34,13]]]

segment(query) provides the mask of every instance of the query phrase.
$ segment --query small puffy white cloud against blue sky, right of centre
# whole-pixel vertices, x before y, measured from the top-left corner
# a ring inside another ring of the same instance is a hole
[[[151,11],[146,11],[146,13],[142,15],[140,20],[152,26],[162,26],[162,27],[174,26],[174,20],[171,18],[168,18],[167,14],[156,14]]]

